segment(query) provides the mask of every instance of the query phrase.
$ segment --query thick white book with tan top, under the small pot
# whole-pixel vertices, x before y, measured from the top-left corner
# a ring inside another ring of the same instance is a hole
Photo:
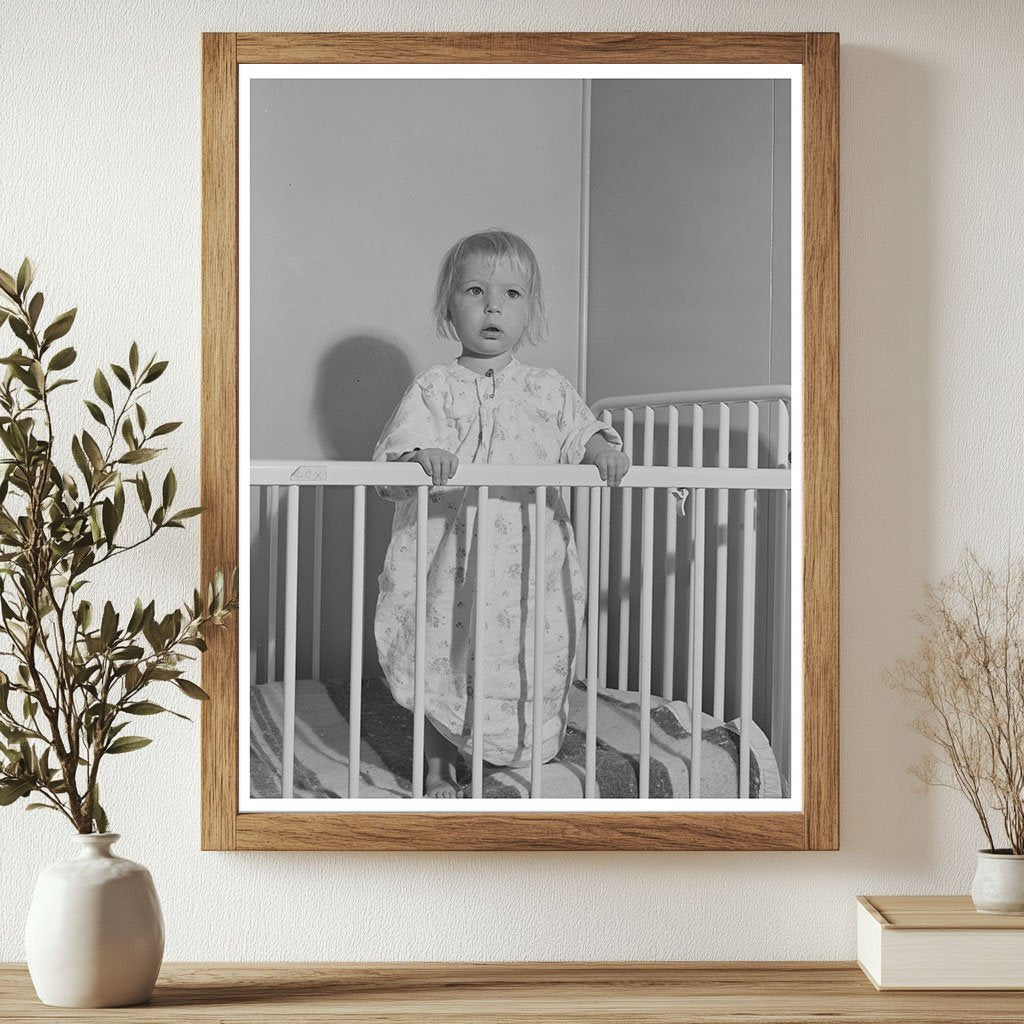
[[[858,896],[857,963],[879,989],[1024,988],[1024,915],[978,913],[970,896]]]

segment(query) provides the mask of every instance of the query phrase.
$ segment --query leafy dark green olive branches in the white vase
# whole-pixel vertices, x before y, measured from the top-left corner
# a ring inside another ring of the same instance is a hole
[[[207,629],[223,626],[237,608],[238,574],[225,586],[218,570],[164,615],[141,598],[125,614],[109,600],[94,608],[86,599],[94,569],[163,530],[184,528],[202,509],[174,508],[173,469],[155,496],[138,468],[164,451],[154,442],[181,424],[147,421],[141,399],[167,361],[142,360],[134,342],[126,365],[111,364],[110,376],[96,370],[97,400],[84,404],[97,426],[71,432],[71,458],[61,465],[51,399],[78,383],[61,376],[77,352],[56,343],[76,310],[42,328],[34,276],[28,259],[16,276],[0,270],[0,328],[6,323],[17,342],[0,357],[0,666],[11,670],[0,671],[0,806],[36,796],[29,809],[56,810],[79,833],[102,833],[100,765],[152,742],[124,731],[133,720],[186,718],[148,699],[159,684],[207,699],[185,673],[206,649]],[[133,517],[144,525],[129,536],[123,520],[131,490]]]

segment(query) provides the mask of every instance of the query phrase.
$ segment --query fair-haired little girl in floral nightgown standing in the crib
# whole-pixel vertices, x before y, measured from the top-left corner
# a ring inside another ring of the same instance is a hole
[[[530,761],[534,736],[534,539],[531,488],[492,487],[486,601],[477,605],[476,490],[443,487],[462,462],[593,463],[616,485],[629,469],[622,441],[554,370],[519,362],[542,340],[541,273],[529,246],[487,230],[456,243],[441,262],[437,331],[462,354],[421,374],[384,428],[374,460],[419,463],[436,488],[427,515],[425,794],[460,797],[458,751],[472,750],[474,682],[483,693],[483,757]],[[415,492],[381,493],[396,503],[374,623],[395,700],[412,708],[416,652]],[[585,588],[572,528],[557,487],[547,490],[545,679],[542,757],[561,746]],[[474,635],[484,631],[484,663]]]

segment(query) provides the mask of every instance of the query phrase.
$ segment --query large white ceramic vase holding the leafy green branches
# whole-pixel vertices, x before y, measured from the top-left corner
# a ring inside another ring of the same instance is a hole
[[[51,1007],[130,1007],[153,994],[164,918],[150,872],[111,852],[120,838],[76,836],[79,855],[36,883],[25,950],[36,994]]]

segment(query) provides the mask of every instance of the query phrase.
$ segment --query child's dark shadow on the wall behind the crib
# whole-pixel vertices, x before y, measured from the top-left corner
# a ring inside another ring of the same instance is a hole
[[[404,352],[392,341],[360,334],[344,338],[331,346],[321,360],[312,396],[313,416],[319,451],[310,459],[340,462],[368,462],[374,445],[398,400],[414,378],[413,367]],[[284,488],[282,488],[283,490]],[[298,580],[298,667],[299,678],[313,673],[312,666],[312,590],[313,534],[315,493],[303,488],[299,509],[299,580]],[[384,562],[391,537],[390,502],[367,492],[367,529],[364,562],[362,651],[364,675],[377,675],[380,667],[373,636],[374,609],[377,606],[377,577]],[[276,672],[284,671],[284,535],[285,496],[280,498]],[[254,503],[253,521],[265,521],[265,509]],[[253,595],[252,635],[256,639],[257,678],[266,678],[268,592],[267,552],[260,544],[260,534],[252,539]],[[329,487],[324,492],[324,534],[322,575],[321,671],[326,679],[348,679],[351,649],[351,579],[352,579],[352,488]]]

